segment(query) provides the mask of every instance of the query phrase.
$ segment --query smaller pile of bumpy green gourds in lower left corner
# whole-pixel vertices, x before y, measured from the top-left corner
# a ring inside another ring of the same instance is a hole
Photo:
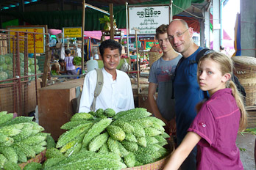
[[[33,117],[16,117],[0,112],[0,169],[20,169],[24,163],[46,149],[47,140],[53,141],[43,127],[32,122]],[[54,142],[54,141],[53,141]],[[54,144],[51,147],[55,147]]]

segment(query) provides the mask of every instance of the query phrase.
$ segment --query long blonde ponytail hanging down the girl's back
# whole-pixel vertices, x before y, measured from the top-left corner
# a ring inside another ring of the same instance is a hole
[[[241,93],[238,92],[238,89],[235,86],[235,83],[233,81],[230,81],[229,83],[230,83],[230,88],[232,89],[232,95],[235,97],[235,101],[238,105],[238,108],[240,108],[240,111],[241,111],[240,124],[239,124],[239,131],[241,132],[246,129],[247,113],[244,108],[243,97]]]

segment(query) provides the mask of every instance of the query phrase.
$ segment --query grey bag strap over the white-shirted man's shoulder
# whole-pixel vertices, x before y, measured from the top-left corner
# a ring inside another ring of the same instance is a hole
[[[95,111],[95,106],[96,106],[96,98],[99,96],[99,94],[102,92],[102,86],[103,86],[103,73],[102,69],[95,69],[97,72],[97,83],[96,87],[94,89],[94,98],[93,98],[93,103],[90,106],[90,111]]]

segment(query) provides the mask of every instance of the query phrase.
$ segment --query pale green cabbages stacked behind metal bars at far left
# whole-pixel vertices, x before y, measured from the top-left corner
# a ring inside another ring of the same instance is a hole
[[[24,53],[19,53],[20,56],[20,71],[21,76],[24,76]],[[36,65],[35,65],[36,64]],[[41,73],[38,66],[38,59],[28,58],[28,75],[35,75],[35,67],[37,73]],[[0,55],[0,81],[13,78],[13,53],[7,53],[5,55]],[[29,77],[29,81],[35,80],[35,76]]]

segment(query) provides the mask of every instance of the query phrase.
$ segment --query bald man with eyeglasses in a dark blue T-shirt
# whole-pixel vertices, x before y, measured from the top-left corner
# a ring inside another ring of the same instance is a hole
[[[177,123],[177,144],[182,142],[188,127],[196,117],[196,104],[204,99],[204,93],[197,83],[196,55],[202,47],[193,42],[193,29],[181,19],[171,21],[168,26],[168,40],[175,51],[182,54],[174,78],[175,113]],[[196,169],[196,147],[182,163],[182,170]]]

